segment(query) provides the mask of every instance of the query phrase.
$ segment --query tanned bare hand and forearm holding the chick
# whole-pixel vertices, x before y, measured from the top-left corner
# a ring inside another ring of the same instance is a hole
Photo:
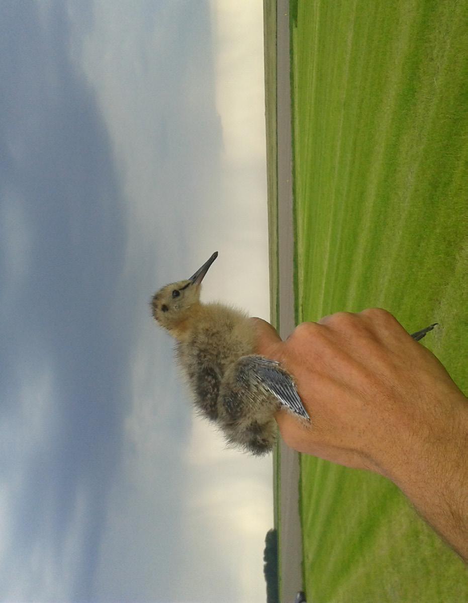
[[[310,425],[276,414],[285,443],[391,479],[468,563],[468,400],[382,309],[303,323],[282,341],[252,319],[256,352],[294,376]]]

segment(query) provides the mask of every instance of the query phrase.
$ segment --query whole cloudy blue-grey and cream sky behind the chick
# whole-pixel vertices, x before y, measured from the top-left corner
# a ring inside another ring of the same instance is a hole
[[[205,298],[268,317],[252,4],[0,5],[4,601],[265,596],[271,459],[192,415],[148,312],[218,250]]]

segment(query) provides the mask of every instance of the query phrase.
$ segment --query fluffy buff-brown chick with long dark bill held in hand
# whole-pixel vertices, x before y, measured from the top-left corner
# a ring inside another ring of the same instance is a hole
[[[255,354],[255,333],[244,312],[200,301],[201,281],[213,255],[189,279],[153,295],[153,317],[176,339],[176,357],[195,406],[215,421],[230,444],[254,455],[270,452],[274,413],[287,408],[309,420],[292,377],[278,362]]]

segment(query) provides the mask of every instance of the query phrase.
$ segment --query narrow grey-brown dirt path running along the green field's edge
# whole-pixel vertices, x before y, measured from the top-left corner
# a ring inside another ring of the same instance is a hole
[[[285,338],[294,329],[294,229],[289,86],[289,0],[277,0],[277,147],[279,327]],[[293,603],[302,589],[302,532],[299,517],[299,455],[280,444],[281,603]]]

